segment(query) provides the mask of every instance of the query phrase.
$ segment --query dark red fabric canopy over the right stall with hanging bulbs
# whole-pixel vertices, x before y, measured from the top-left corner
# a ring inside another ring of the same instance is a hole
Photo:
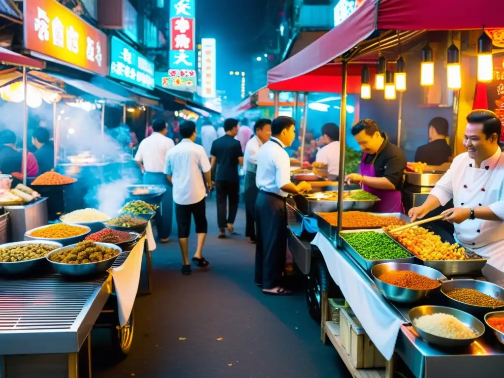
[[[313,71],[327,66],[375,30],[469,30],[483,25],[491,29],[504,25],[503,14],[504,2],[495,0],[364,0],[340,25],[268,71],[268,88],[323,92],[316,83],[310,85],[317,78]],[[334,70],[333,75],[341,76],[341,69]],[[331,80],[335,80],[334,76]],[[340,90],[341,85],[335,92]]]

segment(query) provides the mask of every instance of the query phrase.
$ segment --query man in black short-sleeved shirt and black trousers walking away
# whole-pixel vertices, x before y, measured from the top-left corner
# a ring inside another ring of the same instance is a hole
[[[212,167],[217,164],[215,173],[215,189],[217,191],[217,223],[219,238],[226,237],[226,229],[234,232],[233,223],[238,211],[240,181],[238,165],[243,165],[243,152],[240,142],[234,137],[238,134],[238,120],[228,118],[224,121],[225,135],[212,143],[210,155]],[[227,214],[227,201],[229,213]],[[227,218],[226,218],[227,217]]]

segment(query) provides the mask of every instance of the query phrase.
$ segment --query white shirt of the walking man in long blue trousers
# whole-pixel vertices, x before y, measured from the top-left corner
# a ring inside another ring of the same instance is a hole
[[[154,132],[140,142],[135,161],[144,164],[147,172],[163,173],[166,154],[173,146],[175,146],[173,140]]]

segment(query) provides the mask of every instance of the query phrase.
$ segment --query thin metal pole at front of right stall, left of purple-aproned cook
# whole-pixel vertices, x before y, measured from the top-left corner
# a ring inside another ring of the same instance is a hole
[[[345,185],[345,141],[346,141],[346,86],[348,62],[341,63],[341,109],[340,109],[340,169],[338,174],[338,246],[341,247],[341,225],[343,224],[343,188]]]

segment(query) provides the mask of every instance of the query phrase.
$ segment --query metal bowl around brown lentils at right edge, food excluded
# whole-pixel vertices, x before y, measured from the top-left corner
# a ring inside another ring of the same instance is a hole
[[[441,285],[441,292],[447,297],[450,306],[458,308],[462,311],[469,312],[475,316],[482,317],[485,313],[492,310],[502,310],[504,309],[504,304],[498,307],[487,307],[487,306],[475,306],[473,304],[467,304],[450,298],[448,292],[454,289],[474,289],[478,290],[480,293],[489,295],[495,299],[504,301],[504,289],[500,286],[492,284],[491,282],[479,281],[479,280],[451,280],[444,282]]]

